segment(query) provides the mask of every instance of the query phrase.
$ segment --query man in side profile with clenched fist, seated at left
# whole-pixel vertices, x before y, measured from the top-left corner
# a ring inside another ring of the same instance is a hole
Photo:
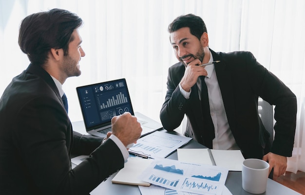
[[[21,22],[19,46],[31,64],[0,99],[0,194],[89,194],[123,168],[127,145],[141,135],[130,113],[112,118],[112,134],[102,144],[101,138],[73,132],[62,85],[81,73],[81,25],[81,18],[61,9]],[[90,157],[72,169],[71,154]]]

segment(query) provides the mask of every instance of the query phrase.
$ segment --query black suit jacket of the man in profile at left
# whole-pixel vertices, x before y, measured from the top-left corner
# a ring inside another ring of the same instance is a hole
[[[30,65],[0,100],[0,194],[89,194],[124,166],[112,140],[73,133],[51,76]],[[70,154],[91,153],[75,169]]]

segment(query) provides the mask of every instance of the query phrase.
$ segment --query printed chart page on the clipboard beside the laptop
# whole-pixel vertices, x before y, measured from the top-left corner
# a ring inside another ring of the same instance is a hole
[[[148,158],[165,158],[192,138],[155,131],[136,141],[129,153]]]

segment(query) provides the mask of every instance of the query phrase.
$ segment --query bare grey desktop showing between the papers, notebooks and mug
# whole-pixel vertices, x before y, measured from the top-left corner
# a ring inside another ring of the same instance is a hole
[[[79,133],[85,134],[85,126],[83,122],[73,122],[73,129]],[[161,130],[167,132],[166,130]],[[180,135],[177,132],[171,132],[172,134]],[[183,146],[183,148],[205,148],[205,146],[201,145],[194,140],[187,143]],[[167,157],[168,159],[177,160],[177,152],[172,153]],[[138,186],[133,185],[124,185],[124,184],[114,184],[111,182],[112,178],[116,175],[114,173],[111,177],[108,177],[106,181],[103,181],[99,184],[90,195],[141,195]],[[242,173],[238,171],[229,171],[226,186],[232,195],[252,195],[242,188]],[[301,195],[286,186],[273,181],[268,178],[267,181],[267,191],[261,195]]]

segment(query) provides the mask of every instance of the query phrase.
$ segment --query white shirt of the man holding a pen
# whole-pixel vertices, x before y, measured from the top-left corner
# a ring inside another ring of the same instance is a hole
[[[210,53],[210,61],[213,61],[213,56]],[[214,64],[206,66],[206,71],[208,75],[205,76],[205,82],[208,88],[209,104],[210,104],[210,114],[214,124],[215,138],[213,139],[213,149],[219,150],[236,150],[239,149],[235,139],[232,135],[231,129],[229,127],[228,118],[222,99],[221,91],[219,88]],[[199,94],[199,100],[201,100],[201,80],[197,79],[197,88]],[[182,95],[189,99],[191,91],[187,92],[182,89],[180,83],[179,88]]]

